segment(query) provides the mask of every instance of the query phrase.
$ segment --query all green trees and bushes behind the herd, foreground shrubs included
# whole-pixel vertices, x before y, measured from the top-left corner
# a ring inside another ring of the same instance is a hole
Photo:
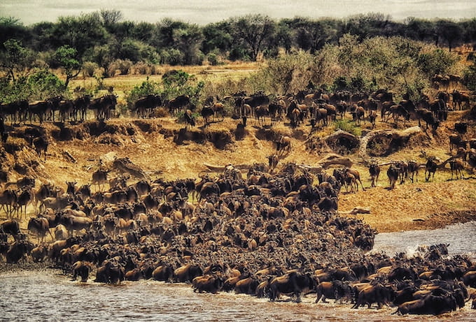
[[[272,20],[264,15],[233,17],[199,26],[165,19],[156,24],[123,21],[118,10],[24,26],[0,18],[0,102],[63,95],[78,97],[104,89],[115,73],[159,73],[160,64],[220,64],[265,58],[246,79],[197,82],[182,71],[147,80],[126,93],[126,101],[148,94],[170,99],[187,94],[194,103],[207,96],[263,91],[287,94],[320,87],[326,91],[372,92],[392,89],[418,98],[433,86],[435,74],[457,74],[476,91],[474,54],[462,61],[455,46],[476,43],[472,20],[393,22],[381,14],[346,19],[304,17]],[[442,48],[444,47],[444,48]],[[449,48],[449,50],[447,49]],[[474,48],[473,48],[474,49]],[[52,70],[59,68],[64,78]],[[139,69],[142,68],[142,69]],[[94,77],[94,89],[69,89],[80,73]],[[79,91],[79,92],[77,92]],[[88,93],[85,93],[88,92]]]

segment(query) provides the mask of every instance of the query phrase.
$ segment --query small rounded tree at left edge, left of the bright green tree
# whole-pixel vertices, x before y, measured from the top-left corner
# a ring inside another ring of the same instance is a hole
[[[23,47],[20,41],[8,39],[3,43],[4,52],[0,52],[0,66],[6,75],[15,82],[15,77],[25,75],[31,68],[33,54]]]

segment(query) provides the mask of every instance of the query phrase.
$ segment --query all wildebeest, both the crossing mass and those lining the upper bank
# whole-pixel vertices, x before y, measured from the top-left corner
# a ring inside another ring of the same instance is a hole
[[[356,123],[368,119],[373,127],[381,109],[382,120],[390,115],[395,126],[400,117],[403,122],[413,117],[435,131],[447,117],[448,101],[442,94],[416,104],[392,100],[386,91],[370,96],[301,92],[276,101],[264,94],[232,98],[233,113],[244,126],[248,117],[259,124],[265,124],[265,117],[271,124],[286,117],[290,126],[309,120],[315,128],[328,126],[349,110]],[[15,104],[21,108],[14,113],[5,112],[8,109],[2,105],[4,117],[11,122],[26,122],[27,117],[54,121],[55,111],[63,122],[74,115],[84,119],[77,106],[92,107],[98,119],[108,119],[116,96],[71,104],[62,98],[57,103],[52,99]],[[150,117],[161,104],[160,97],[147,96],[134,109],[139,116]],[[188,97],[165,104],[172,114],[184,110],[188,126],[195,126]],[[204,124],[223,116],[223,103],[209,100],[201,115]],[[439,164],[433,157],[425,165],[391,162],[386,171],[390,186],[418,180],[420,168],[425,168],[426,180],[446,163],[456,171],[456,178],[458,173],[462,176],[464,162],[474,168],[475,142],[463,139],[467,129],[463,122],[458,124],[450,138],[450,150],[453,145],[458,149],[455,156]],[[4,186],[0,210],[21,219],[31,205],[36,216],[29,219],[27,230],[36,235],[37,244],[22,233],[18,221],[8,218],[1,223],[1,256],[7,263],[29,258],[51,263],[82,281],[92,275],[94,281],[111,284],[125,279],[188,282],[198,292],[235,291],[270,300],[288,295],[300,301],[303,295],[316,293],[316,302],[330,298],[351,302],[354,308],[397,305],[399,314],[441,314],[475,299],[470,290],[476,287],[476,264],[465,256],[448,256],[444,244],[423,247],[412,257],[365,254],[373,247],[375,231],[337,212],[342,188],[356,191],[360,184],[365,190],[358,171],[338,168],[332,175],[314,178],[293,163],[276,170],[279,154],[292,149],[286,136],[276,145],[269,165],[251,166],[246,179],[233,166],[217,177],[137,182],[125,175],[111,178],[109,169],[100,168],[90,184],[65,182],[65,188],[24,177]],[[380,167],[369,164],[371,186],[378,184]]]

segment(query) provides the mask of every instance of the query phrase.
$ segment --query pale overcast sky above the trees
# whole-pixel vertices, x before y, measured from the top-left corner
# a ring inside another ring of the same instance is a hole
[[[471,0],[1,0],[0,16],[18,17],[24,24],[55,22],[59,16],[80,15],[100,9],[120,10],[125,20],[158,22],[170,17],[207,24],[228,17],[262,13],[284,17],[348,17],[358,13],[384,13],[394,20],[405,17],[451,19],[476,16]]]

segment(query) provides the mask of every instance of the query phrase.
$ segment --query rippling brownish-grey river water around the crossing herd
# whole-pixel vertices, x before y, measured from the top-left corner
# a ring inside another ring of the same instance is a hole
[[[444,229],[377,235],[374,251],[412,252],[418,244],[449,243],[450,254],[470,254],[476,223]],[[414,321],[392,315],[394,307],[351,309],[351,305],[269,302],[234,293],[193,293],[186,284],[125,281],[119,286],[69,281],[55,270],[13,270],[0,274],[0,321]],[[332,301],[331,301],[332,302]],[[470,302],[463,309],[426,321],[476,321]]]

